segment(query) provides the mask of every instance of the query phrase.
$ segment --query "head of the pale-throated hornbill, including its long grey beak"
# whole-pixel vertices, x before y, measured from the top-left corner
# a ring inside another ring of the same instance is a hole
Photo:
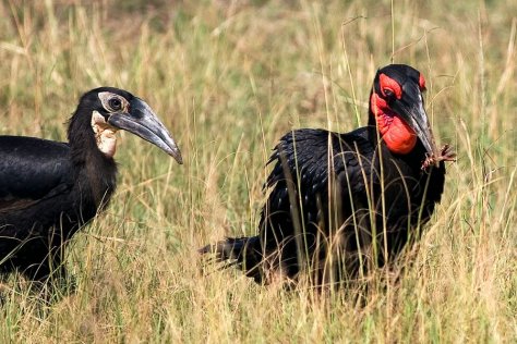
[[[83,95],[77,111],[71,119],[69,140],[72,143],[77,114],[91,114],[91,126],[98,149],[111,158],[116,150],[116,132],[124,130],[154,144],[178,163],[183,163],[181,152],[165,125],[153,109],[129,91],[115,87],[100,87]],[[77,120],[79,121],[79,120]]]

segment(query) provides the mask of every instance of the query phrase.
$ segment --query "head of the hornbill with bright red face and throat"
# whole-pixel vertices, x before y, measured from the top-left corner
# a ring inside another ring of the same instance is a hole
[[[370,98],[370,113],[387,148],[409,153],[420,139],[428,156],[436,145],[423,107],[425,79],[416,69],[389,64],[377,71]]]

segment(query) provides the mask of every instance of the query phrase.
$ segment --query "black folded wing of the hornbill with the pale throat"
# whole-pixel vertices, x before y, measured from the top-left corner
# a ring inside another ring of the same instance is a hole
[[[68,191],[72,184],[67,144],[0,136],[0,212],[26,208]]]

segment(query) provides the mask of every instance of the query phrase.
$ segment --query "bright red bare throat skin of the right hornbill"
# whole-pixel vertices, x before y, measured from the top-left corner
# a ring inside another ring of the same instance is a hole
[[[417,134],[386,100],[375,93],[370,96],[369,125],[376,127],[390,152],[409,153],[417,145]],[[374,133],[376,140],[376,132]]]

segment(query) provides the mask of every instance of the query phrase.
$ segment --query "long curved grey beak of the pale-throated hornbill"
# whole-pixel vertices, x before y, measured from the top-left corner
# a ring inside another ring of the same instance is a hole
[[[113,113],[108,118],[108,123],[142,137],[165,150],[178,163],[183,163],[180,149],[169,132],[151,107],[142,99],[135,97],[130,102],[129,113]]]

